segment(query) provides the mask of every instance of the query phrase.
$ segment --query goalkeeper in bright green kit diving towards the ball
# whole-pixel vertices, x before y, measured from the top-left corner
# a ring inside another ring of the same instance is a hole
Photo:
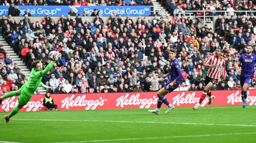
[[[9,115],[4,116],[4,119],[6,120],[7,123],[9,123],[10,118],[12,116],[16,115],[19,110],[25,106],[29,100],[32,98],[34,92],[37,90],[38,86],[41,85],[44,88],[49,88],[49,86],[44,85],[41,80],[42,76],[46,74],[50,69],[52,68],[54,64],[54,61],[51,61],[47,67],[42,71],[42,63],[40,60],[34,61],[32,63],[32,71],[29,75],[28,82],[26,82],[18,91],[12,91],[9,92],[8,94],[2,96],[0,98],[0,105],[2,104],[2,101],[5,98],[9,98],[12,96],[19,96],[18,97],[18,105],[13,108],[12,112],[10,112]]]

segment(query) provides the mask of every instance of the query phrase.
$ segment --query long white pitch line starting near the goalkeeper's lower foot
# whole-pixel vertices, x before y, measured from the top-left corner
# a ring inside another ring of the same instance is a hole
[[[114,122],[114,123],[162,123],[162,124],[186,124],[186,125],[220,125],[220,126],[244,126],[256,127],[256,125],[241,125],[241,124],[214,124],[214,123],[179,123],[179,122],[156,122],[156,121],[101,121],[101,120],[67,120],[67,119],[12,119],[25,121],[92,121],[92,122]]]

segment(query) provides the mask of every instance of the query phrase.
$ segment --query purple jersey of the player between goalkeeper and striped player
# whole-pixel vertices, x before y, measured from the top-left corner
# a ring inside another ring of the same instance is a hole
[[[176,80],[177,83],[179,83],[179,80],[181,77],[179,79],[176,79],[179,74],[182,75],[180,64],[177,59],[174,59],[173,61],[170,61],[170,66],[169,66],[169,75],[171,76],[170,81],[172,82]]]

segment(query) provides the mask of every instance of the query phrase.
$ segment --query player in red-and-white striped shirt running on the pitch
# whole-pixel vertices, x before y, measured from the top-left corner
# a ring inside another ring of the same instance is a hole
[[[200,104],[204,101],[206,95],[209,96],[208,104],[212,103],[212,100],[215,96],[212,96],[210,88],[217,83],[219,78],[222,78],[222,81],[225,80],[226,77],[226,59],[221,57],[222,50],[217,48],[215,50],[215,55],[211,55],[204,62],[204,67],[209,67],[208,72],[205,78],[205,87],[202,96],[200,97],[199,102],[193,107],[194,110],[198,110]]]

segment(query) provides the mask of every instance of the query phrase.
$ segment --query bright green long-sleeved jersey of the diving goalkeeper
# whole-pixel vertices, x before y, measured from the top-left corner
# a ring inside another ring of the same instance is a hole
[[[50,62],[47,65],[47,67],[40,72],[34,70],[34,68],[32,69],[28,78],[28,82],[26,83],[26,87],[28,89],[28,92],[30,92],[30,94],[33,94],[37,90],[38,86],[41,84],[42,76],[44,76],[48,71],[50,71],[53,64],[54,62]]]

